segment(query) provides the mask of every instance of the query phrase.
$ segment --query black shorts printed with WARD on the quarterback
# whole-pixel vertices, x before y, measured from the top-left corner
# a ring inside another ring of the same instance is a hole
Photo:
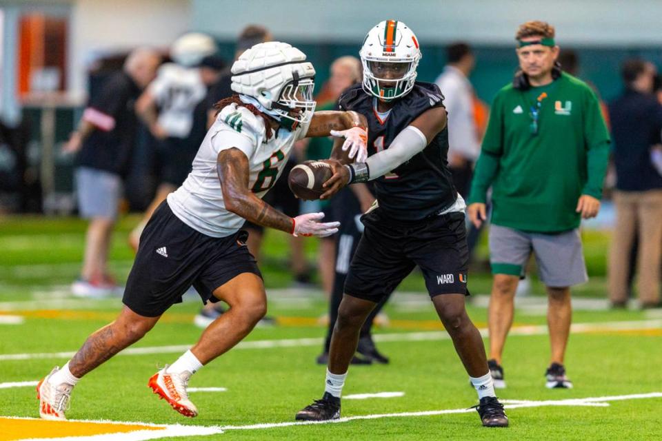
[[[430,297],[468,295],[464,213],[399,223],[380,212],[377,208],[361,217],[365,229],[345,281],[345,294],[379,302],[419,265]]]

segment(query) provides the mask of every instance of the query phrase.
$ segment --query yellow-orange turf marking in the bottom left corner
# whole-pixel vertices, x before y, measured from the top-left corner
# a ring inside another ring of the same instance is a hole
[[[139,430],[163,430],[164,427],[142,424],[109,424],[103,422],[22,420],[0,417],[0,441],[26,438],[64,438],[68,436],[101,435],[102,433],[126,433]]]

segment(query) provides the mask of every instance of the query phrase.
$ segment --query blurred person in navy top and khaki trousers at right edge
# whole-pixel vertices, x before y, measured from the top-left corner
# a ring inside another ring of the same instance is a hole
[[[623,63],[623,93],[609,104],[613,158],[616,167],[616,226],[609,257],[609,298],[612,306],[628,302],[632,245],[641,307],[660,305],[662,253],[662,175],[654,165],[662,130],[662,105],[653,94],[652,63]]]

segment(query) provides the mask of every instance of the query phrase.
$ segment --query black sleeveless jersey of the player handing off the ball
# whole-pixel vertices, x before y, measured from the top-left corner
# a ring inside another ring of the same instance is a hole
[[[368,119],[368,156],[388,149],[395,137],[426,110],[443,107],[437,85],[419,81],[395,102],[385,121],[375,111],[374,100],[361,84],[346,90],[339,100],[341,110],[354,110]],[[396,220],[420,220],[453,205],[457,190],[448,170],[447,154],[445,128],[422,152],[375,179],[375,196],[383,212]]]

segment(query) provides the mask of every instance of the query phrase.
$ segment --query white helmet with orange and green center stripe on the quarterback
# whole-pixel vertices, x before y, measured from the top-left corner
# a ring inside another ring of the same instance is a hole
[[[365,36],[359,55],[363,90],[368,94],[392,101],[414,87],[421,50],[416,35],[402,21],[379,22]]]

